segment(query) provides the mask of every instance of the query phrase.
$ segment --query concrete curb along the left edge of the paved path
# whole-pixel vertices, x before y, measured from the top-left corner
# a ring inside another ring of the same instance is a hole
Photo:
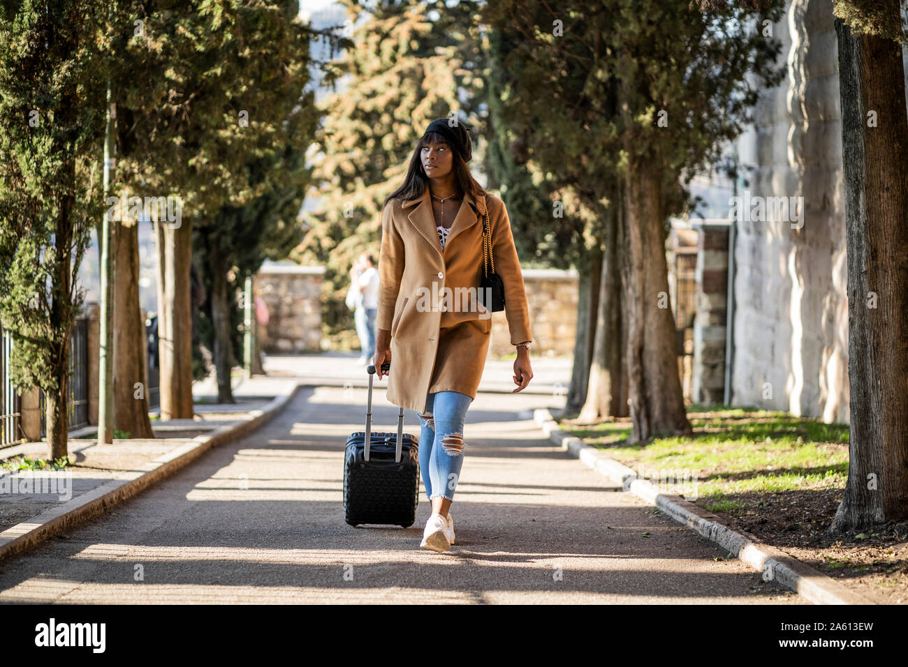
[[[302,387],[307,385],[297,384],[289,393],[273,398],[261,409],[252,410],[249,413],[252,418],[242,424],[216,427],[211,433],[195,436],[185,445],[159,456],[137,470],[125,471],[103,486],[98,486],[59,507],[6,529],[0,533],[0,560],[30,549],[35,544],[40,544],[49,537],[94,516],[104,514],[114,505],[188,466],[212,447],[223,445],[262,426],[277,415]]]

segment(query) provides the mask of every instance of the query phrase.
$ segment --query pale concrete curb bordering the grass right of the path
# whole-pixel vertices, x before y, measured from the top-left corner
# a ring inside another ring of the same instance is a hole
[[[568,436],[558,427],[558,422],[552,418],[548,409],[534,410],[533,419],[552,442],[571,456],[579,458],[597,473],[620,484],[625,491],[655,505],[679,524],[693,528],[757,572],[762,572],[766,581],[775,580],[814,604],[875,604],[864,595],[845,588],[810,565],[785,554],[781,549],[760,542],[754,535],[732,530],[722,524],[720,517],[707,512],[703,507],[694,505],[679,495],[660,493],[655,485],[638,478],[637,473],[629,467],[608,458],[580,438]]]

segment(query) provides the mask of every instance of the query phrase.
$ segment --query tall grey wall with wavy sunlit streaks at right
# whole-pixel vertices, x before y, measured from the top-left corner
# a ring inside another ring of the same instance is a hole
[[[773,26],[787,76],[738,142],[741,197],[795,197],[801,219],[742,206],[736,221],[732,402],[844,422],[848,302],[832,4],[795,0]],[[754,214],[755,213],[755,214]]]

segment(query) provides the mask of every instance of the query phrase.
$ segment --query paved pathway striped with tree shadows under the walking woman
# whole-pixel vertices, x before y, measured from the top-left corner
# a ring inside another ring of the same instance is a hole
[[[0,602],[804,603],[518,420],[552,405],[539,395],[470,407],[448,554],[419,549],[421,490],[410,529],[351,528],[343,447],[365,394],[301,389],[258,432],[0,562]],[[378,388],[373,409],[391,430],[397,410]],[[419,432],[412,414],[405,424]]]

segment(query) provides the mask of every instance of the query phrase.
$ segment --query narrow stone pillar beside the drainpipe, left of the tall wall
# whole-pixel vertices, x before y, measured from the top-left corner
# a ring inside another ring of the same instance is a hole
[[[722,403],[725,396],[725,310],[728,299],[727,221],[695,223],[696,318],[694,388],[697,403]]]

